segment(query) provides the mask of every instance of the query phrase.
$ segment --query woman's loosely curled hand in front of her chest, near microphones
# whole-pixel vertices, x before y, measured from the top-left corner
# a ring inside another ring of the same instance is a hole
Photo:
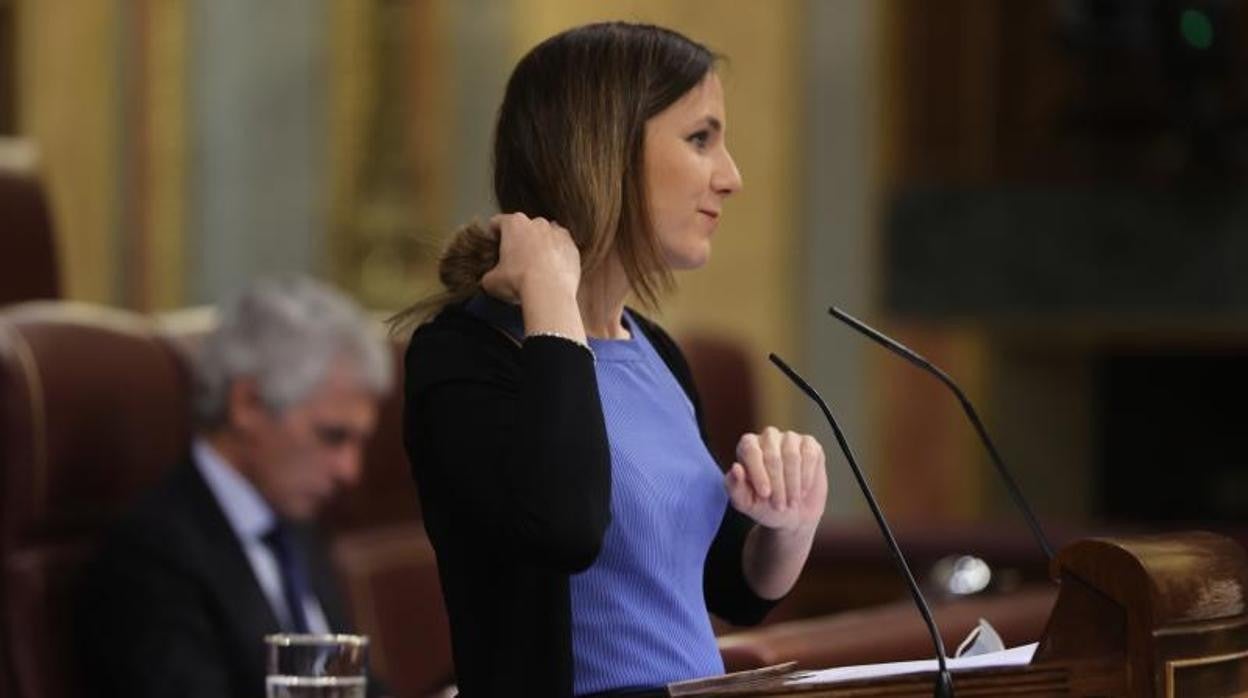
[[[827,499],[824,447],[812,436],[775,427],[744,435],[724,483],[733,507],[760,526],[812,533]]]

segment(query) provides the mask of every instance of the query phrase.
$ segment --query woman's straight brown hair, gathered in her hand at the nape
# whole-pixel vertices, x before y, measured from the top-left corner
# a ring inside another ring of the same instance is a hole
[[[530,50],[512,72],[494,129],[499,211],[558,222],[580,250],[583,277],[619,255],[633,292],[654,306],[671,287],[645,191],[645,122],[694,89],[715,54],[675,31],[603,22]],[[444,291],[399,312],[396,327],[470,297],[498,263],[498,231],[473,222],[438,263]]]

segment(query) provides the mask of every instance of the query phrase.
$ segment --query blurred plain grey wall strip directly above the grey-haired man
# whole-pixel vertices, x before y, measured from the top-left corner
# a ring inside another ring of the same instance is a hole
[[[327,0],[190,2],[186,301],[322,271],[327,236]]]

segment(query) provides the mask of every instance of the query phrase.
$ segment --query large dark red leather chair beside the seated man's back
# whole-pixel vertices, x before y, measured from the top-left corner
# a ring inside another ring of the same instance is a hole
[[[12,698],[81,694],[75,576],[97,532],[187,447],[187,376],[142,316],[0,312],[0,652]]]

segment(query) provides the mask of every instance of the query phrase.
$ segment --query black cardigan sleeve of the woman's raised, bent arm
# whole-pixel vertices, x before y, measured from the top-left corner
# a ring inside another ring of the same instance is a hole
[[[610,523],[593,357],[469,322],[434,322],[408,348],[404,437],[427,518],[473,554],[582,571]]]

